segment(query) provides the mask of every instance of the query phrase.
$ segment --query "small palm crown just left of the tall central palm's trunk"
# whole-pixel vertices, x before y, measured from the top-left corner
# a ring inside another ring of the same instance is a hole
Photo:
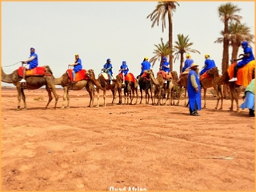
[[[150,58],[150,62],[153,62],[152,63],[152,67],[154,66],[154,63],[156,61],[159,61],[160,60],[160,64],[159,64],[159,68],[161,67],[161,64],[162,64],[162,58],[163,57],[169,57],[170,54],[172,54],[172,50],[169,48],[169,44],[168,42],[164,43],[162,41],[162,38],[161,38],[161,43],[158,44],[158,45],[155,45],[157,49],[154,50],[153,54],[154,57],[153,58]]]

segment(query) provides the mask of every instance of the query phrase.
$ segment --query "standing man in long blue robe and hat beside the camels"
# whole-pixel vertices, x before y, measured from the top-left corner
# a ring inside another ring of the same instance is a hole
[[[187,78],[187,92],[190,104],[190,115],[199,116],[198,110],[201,110],[201,89],[198,74],[196,70],[198,64],[193,63],[190,66],[190,72]]]

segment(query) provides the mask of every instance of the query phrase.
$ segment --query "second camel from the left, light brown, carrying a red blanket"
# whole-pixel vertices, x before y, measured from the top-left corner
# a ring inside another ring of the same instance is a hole
[[[63,102],[61,109],[65,109],[65,102],[66,109],[70,108],[70,94],[69,90],[82,90],[83,88],[86,88],[90,95],[90,102],[88,107],[94,107],[94,84],[90,80],[81,80],[78,82],[75,82],[72,84],[72,81],[67,73],[62,74],[60,78],[54,79],[55,85],[59,85],[63,87],[64,94],[63,94]]]

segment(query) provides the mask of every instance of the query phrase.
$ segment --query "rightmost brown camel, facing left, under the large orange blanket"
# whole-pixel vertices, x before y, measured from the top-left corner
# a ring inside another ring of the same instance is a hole
[[[235,82],[229,82],[230,77],[227,70],[224,72],[224,74],[222,74],[222,77],[220,77],[220,75],[218,74],[218,68],[217,66],[215,66],[214,68],[208,70],[207,74],[209,74],[213,78],[215,84],[217,85],[227,84],[229,86],[230,99],[231,99],[230,111],[233,111],[234,101],[237,104],[237,111],[239,111],[238,96],[241,92],[240,86],[237,86]]]

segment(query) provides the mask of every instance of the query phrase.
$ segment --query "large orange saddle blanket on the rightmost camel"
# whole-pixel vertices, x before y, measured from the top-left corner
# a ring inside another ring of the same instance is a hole
[[[234,66],[236,66],[237,63],[233,63],[229,66],[227,69],[227,72],[230,76],[230,79],[234,76]],[[238,86],[248,86],[252,80],[252,74],[253,70],[255,68],[255,60],[249,62],[246,64],[246,66],[242,66],[242,68],[238,69],[238,81],[235,82]]]

